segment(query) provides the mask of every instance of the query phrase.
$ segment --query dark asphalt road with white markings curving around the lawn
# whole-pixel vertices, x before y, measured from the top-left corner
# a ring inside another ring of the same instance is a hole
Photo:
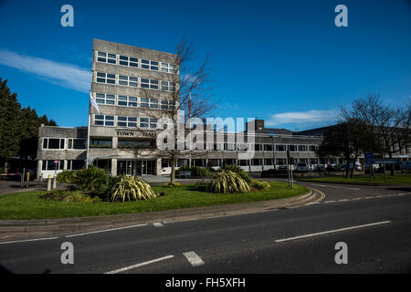
[[[411,189],[301,183],[324,201],[179,223],[0,243],[11,273],[411,273]],[[74,246],[63,265],[60,246]],[[337,265],[335,245],[347,245]]]

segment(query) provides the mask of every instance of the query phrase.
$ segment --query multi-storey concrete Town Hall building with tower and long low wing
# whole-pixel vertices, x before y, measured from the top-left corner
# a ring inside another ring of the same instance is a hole
[[[170,162],[157,150],[156,135],[160,131],[157,119],[162,110],[172,106],[172,80],[178,80],[175,60],[174,54],[95,39],[90,94],[100,112],[90,106],[89,132],[87,127],[39,129],[37,177],[79,169],[86,160],[112,175],[170,173]],[[232,143],[229,135],[226,133],[223,141],[205,145],[204,151],[180,157],[177,167],[187,164],[218,168],[227,163],[248,172],[261,172],[285,165],[287,150],[297,162],[337,162],[317,157],[321,134],[269,129],[264,120],[256,120],[251,159],[239,159],[237,141]]]

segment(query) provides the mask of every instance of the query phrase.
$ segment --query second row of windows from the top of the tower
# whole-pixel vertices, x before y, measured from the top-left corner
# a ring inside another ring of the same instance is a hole
[[[98,83],[128,86],[132,88],[138,88],[140,84],[141,89],[161,89],[162,91],[173,91],[173,82],[171,81],[159,81],[156,79],[138,78],[125,75],[118,75],[118,78],[116,78],[116,74],[104,72],[97,72],[96,81]]]

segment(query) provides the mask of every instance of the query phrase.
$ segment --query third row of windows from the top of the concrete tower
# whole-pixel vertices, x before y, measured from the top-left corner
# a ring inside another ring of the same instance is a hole
[[[140,102],[139,102],[140,101]],[[117,105],[121,107],[132,107],[145,109],[154,109],[154,110],[173,110],[173,100],[165,100],[165,99],[148,99],[148,98],[137,98],[137,97],[129,97],[118,95],[117,96],[117,103],[116,103],[116,96],[113,94],[105,94],[105,93],[96,93],[96,102],[105,105]]]

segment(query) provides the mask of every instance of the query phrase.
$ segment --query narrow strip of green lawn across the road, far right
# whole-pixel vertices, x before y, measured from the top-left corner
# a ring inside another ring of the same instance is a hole
[[[301,181],[307,182],[327,182],[327,183],[371,183],[369,175],[354,176],[351,178],[343,178],[342,176],[334,177],[316,177],[316,178],[304,178]],[[384,174],[378,173],[373,177],[373,183],[385,183]],[[411,183],[411,175],[398,174],[395,176],[387,175],[386,183]]]

